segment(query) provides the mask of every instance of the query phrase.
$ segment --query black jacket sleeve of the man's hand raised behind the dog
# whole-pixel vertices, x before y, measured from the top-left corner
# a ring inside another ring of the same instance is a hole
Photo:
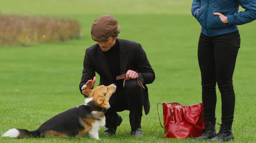
[[[81,94],[82,93],[82,86],[86,84],[88,80],[93,79],[95,76],[95,70],[92,67],[91,59],[90,59],[90,54],[89,50],[86,49],[85,56],[84,56],[84,62],[83,62],[83,71],[82,71],[82,77],[81,77],[81,82],[79,84],[79,89]],[[83,94],[84,95],[84,94]]]

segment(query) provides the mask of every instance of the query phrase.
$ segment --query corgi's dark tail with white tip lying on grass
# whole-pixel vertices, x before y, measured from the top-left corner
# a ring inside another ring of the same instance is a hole
[[[14,138],[23,138],[23,137],[32,137],[37,138],[40,135],[39,131],[28,131],[26,129],[10,129],[5,132],[2,136],[14,137]]]

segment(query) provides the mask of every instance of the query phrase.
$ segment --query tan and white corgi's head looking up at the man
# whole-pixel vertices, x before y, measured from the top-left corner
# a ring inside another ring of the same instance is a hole
[[[88,96],[88,100],[93,100],[97,106],[108,109],[110,108],[109,98],[115,93],[116,88],[116,84],[101,85],[92,90],[83,90],[83,94]]]

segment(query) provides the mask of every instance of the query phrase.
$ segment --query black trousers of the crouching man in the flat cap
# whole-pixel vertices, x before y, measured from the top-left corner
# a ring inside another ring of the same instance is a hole
[[[141,128],[143,107],[143,89],[137,84],[137,80],[126,80],[124,87],[117,84],[116,92],[109,99],[110,108],[105,113],[106,127],[115,128],[119,121],[117,112],[129,110],[131,129]]]

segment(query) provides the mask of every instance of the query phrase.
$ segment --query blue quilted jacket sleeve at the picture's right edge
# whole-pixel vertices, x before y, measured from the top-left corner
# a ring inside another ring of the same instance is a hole
[[[256,19],[256,1],[239,0],[239,4],[245,11],[227,15],[228,25],[242,25],[252,22]]]

